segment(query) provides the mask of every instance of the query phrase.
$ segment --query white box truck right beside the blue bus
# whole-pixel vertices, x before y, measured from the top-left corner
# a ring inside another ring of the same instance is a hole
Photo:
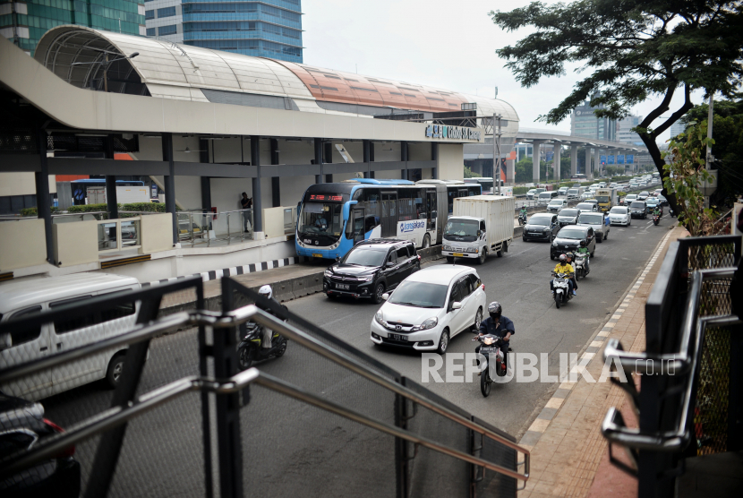
[[[513,242],[513,197],[474,195],[454,200],[441,241],[441,255],[448,262],[455,258],[474,259],[483,264],[490,253],[502,256]]]

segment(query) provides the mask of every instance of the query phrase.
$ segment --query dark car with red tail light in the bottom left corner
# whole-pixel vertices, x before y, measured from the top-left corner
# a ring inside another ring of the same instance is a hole
[[[44,407],[0,393],[0,459],[34,446],[39,439],[64,432],[44,418]],[[0,478],[0,496],[80,496],[80,463],[74,446],[10,477]]]

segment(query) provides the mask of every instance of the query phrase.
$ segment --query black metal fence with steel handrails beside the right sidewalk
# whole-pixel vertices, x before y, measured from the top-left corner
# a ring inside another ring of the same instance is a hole
[[[645,353],[625,352],[617,340],[604,350],[628,374],[642,375],[639,392],[634,382],[619,384],[639,428],[628,429],[615,408],[602,424],[612,462],[638,478],[641,498],[674,496],[684,459],[743,449],[743,322],[730,295],[740,250],[740,236],[670,245],[645,305]],[[633,466],[613,458],[614,443]]]

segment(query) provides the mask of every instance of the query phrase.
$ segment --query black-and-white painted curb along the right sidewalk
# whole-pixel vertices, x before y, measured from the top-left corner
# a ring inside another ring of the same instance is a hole
[[[573,388],[577,385],[577,382],[569,381],[569,375],[576,375],[576,378],[580,379],[581,372],[585,370],[585,367],[594,356],[599,353],[604,345],[604,341],[609,337],[616,323],[619,322],[619,318],[621,318],[622,313],[627,309],[629,303],[635,298],[637,289],[639,289],[643,282],[645,282],[645,277],[653,268],[655,262],[657,262],[663,248],[668,244],[670,235],[673,233],[673,228],[676,228],[676,226],[672,227],[669,230],[669,233],[662,238],[661,242],[658,243],[653,252],[653,256],[651,256],[650,260],[645,265],[645,269],[640,273],[640,276],[637,277],[635,283],[632,284],[632,287],[628,289],[621,303],[617,306],[617,309],[611,314],[611,318],[602,326],[601,331],[596,333],[591,339],[588,347],[585,348],[583,354],[578,358],[576,365],[573,365],[572,368],[570,368],[568,377],[563,378],[563,380],[560,381],[557,391],[552,394],[552,397],[544,405],[544,408],[542,408],[542,411],[537,415],[536,419],[534,419],[532,425],[526,429],[524,435],[521,436],[519,444],[526,446],[531,450],[534,448],[534,445],[539,442],[542,434],[547,431],[552,419],[557,416],[562,403],[568,398],[570,392],[573,391]]]

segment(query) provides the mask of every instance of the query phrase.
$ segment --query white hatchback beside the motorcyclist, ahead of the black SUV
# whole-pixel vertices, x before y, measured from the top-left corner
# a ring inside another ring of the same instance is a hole
[[[372,319],[372,342],[441,355],[459,332],[479,330],[487,309],[477,272],[459,265],[416,271],[383,297],[387,302]]]

